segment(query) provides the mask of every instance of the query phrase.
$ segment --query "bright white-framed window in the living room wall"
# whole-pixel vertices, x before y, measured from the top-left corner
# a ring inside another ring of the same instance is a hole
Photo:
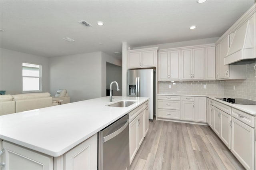
[[[42,65],[22,63],[22,91],[42,90]]]

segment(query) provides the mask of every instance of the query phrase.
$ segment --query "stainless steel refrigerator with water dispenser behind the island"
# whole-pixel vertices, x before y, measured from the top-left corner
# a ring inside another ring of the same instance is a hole
[[[155,113],[155,76],[154,69],[137,69],[127,71],[127,96],[149,97],[149,120],[153,121]]]

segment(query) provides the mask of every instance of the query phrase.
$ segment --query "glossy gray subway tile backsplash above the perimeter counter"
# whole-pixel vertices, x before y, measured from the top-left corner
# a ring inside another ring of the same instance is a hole
[[[256,100],[254,65],[255,63],[247,65],[247,79],[218,81],[158,81],[157,93],[176,95],[213,95]],[[204,89],[204,85],[206,85],[206,89]]]

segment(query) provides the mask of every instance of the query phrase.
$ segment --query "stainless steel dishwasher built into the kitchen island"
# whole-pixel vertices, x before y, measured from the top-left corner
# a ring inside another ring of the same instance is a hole
[[[129,115],[98,132],[98,169],[129,170]]]

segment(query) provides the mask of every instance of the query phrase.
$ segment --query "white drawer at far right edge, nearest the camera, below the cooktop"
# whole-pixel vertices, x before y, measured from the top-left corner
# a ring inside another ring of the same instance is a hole
[[[250,127],[255,127],[255,117],[232,108],[232,117],[238,119],[239,121],[249,125]]]

